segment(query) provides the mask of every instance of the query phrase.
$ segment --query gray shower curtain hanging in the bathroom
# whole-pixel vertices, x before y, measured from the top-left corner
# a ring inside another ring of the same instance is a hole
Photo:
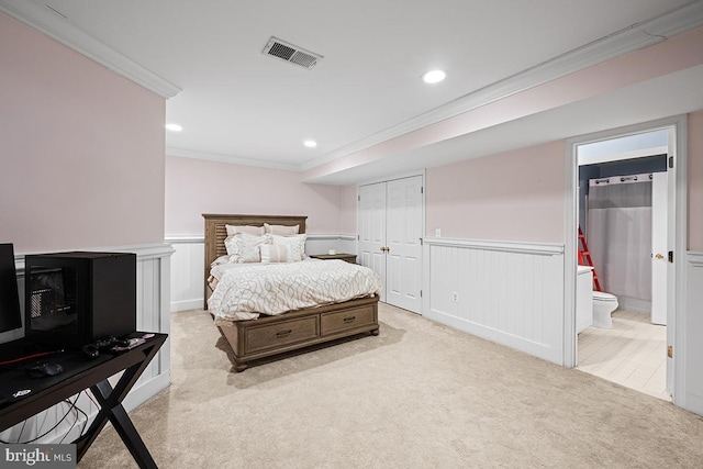
[[[601,288],[624,310],[651,311],[651,179],[649,175],[589,183],[587,237]]]

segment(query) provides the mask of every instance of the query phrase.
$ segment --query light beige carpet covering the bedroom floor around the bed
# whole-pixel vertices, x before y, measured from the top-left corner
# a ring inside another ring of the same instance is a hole
[[[382,304],[381,333],[235,373],[175,313],[172,384],[131,417],[160,468],[700,468],[703,418]],[[105,428],[81,469],[136,467]]]

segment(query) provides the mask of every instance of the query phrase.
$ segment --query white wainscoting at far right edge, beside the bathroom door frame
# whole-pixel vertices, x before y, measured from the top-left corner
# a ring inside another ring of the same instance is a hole
[[[684,362],[683,377],[677,377],[677,387],[683,384],[682,402],[677,402],[683,409],[703,415],[703,253],[687,253],[685,266],[685,312],[683,330],[677,338],[674,357],[682,357]],[[679,327],[677,327],[679,328]],[[683,337],[681,344],[680,337]],[[681,368],[677,368],[677,371]],[[683,378],[683,379],[681,379]]]

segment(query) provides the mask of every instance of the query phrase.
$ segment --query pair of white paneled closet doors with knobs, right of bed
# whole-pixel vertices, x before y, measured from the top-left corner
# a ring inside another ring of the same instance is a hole
[[[359,187],[359,264],[383,284],[380,300],[422,311],[422,176]]]

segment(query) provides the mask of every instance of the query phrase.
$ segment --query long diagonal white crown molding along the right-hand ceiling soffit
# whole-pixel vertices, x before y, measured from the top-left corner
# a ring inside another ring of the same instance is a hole
[[[302,165],[301,169],[312,169],[382,142],[615,58],[622,54],[666,41],[677,34],[698,27],[701,24],[703,24],[703,0],[696,0],[678,10],[670,11],[641,23],[636,23],[581,47],[563,53],[401,124],[326,153],[325,155],[306,161]]]

